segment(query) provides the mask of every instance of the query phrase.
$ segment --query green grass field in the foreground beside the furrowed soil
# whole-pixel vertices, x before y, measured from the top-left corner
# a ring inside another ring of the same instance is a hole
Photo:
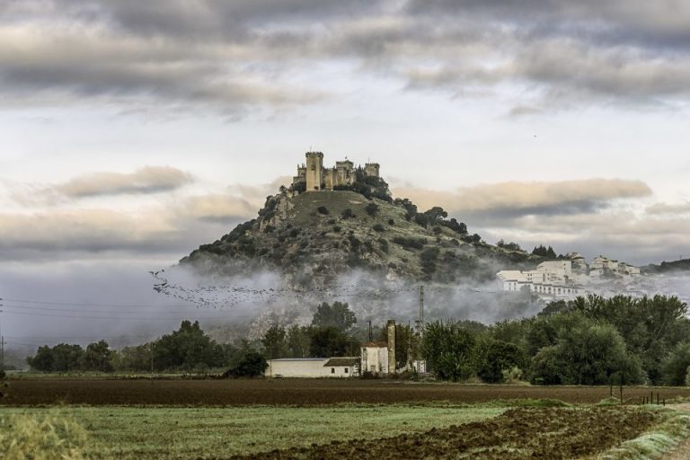
[[[486,420],[501,407],[453,405],[341,405],[329,407],[3,408],[9,420],[74,420],[86,431],[84,457],[196,458],[339,439],[372,439]],[[7,425],[7,423],[5,423]],[[16,425],[16,424],[15,424]],[[3,427],[7,429],[7,427]]]

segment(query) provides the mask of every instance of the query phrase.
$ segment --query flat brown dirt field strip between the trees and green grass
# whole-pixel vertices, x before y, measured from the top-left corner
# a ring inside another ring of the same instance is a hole
[[[626,388],[632,402],[650,388]],[[690,388],[654,388],[661,399],[690,396]],[[615,393],[617,395],[617,393]],[[334,403],[484,403],[491,400],[551,398],[567,403],[597,403],[608,387],[447,385],[385,380],[87,380],[22,379],[10,382],[4,405],[323,405]]]

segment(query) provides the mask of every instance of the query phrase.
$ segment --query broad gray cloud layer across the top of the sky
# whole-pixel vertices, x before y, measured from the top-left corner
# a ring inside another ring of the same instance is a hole
[[[690,95],[690,8],[670,0],[29,0],[3,8],[0,93],[10,102],[201,106],[237,117],[335,97],[296,78],[305,68],[317,78],[332,62],[455,97],[517,84],[517,115],[583,102],[663,107]]]

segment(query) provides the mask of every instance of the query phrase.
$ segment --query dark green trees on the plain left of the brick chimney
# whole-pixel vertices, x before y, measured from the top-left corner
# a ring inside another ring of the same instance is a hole
[[[261,341],[217,343],[199,322],[181,322],[177,331],[155,341],[122,349],[111,349],[107,341],[96,341],[84,349],[78,344],[40,346],[27,358],[31,369],[39,372],[195,372],[230,369],[229,375],[246,375],[243,367],[265,365],[270,358],[311,358],[358,356],[360,340],[350,333],[357,318],[348,304],[318,305],[308,326],[286,330],[272,326]],[[239,370],[238,370],[239,369]],[[258,375],[250,371],[250,374]]]

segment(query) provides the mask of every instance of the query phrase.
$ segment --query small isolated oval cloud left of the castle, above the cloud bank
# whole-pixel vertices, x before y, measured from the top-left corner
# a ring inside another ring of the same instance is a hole
[[[78,199],[103,195],[148,194],[176,190],[192,181],[190,174],[171,166],[146,166],[134,173],[90,173],[48,191]]]

